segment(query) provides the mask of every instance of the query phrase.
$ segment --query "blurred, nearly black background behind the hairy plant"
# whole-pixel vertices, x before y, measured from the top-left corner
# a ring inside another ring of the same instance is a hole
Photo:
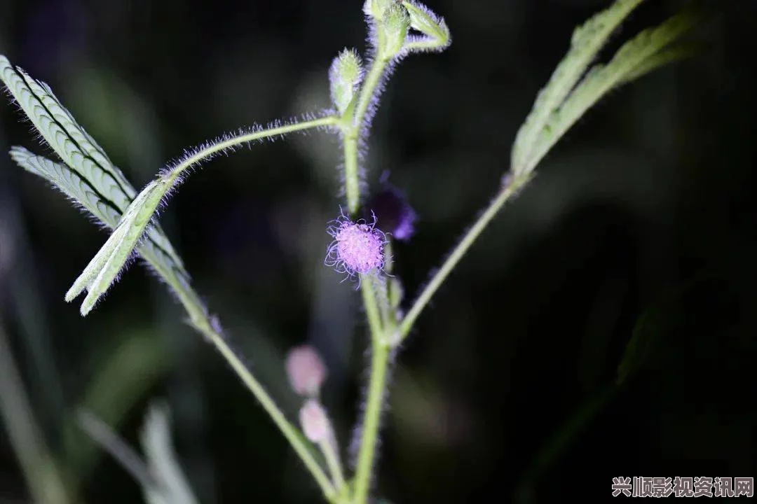
[[[645,2],[609,51],[685,3]],[[361,5],[3,0],[0,53],[48,82],[142,187],[224,131],[329,107],[332,57],[365,48]],[[388,170],[419,215],[395,246],[406,305],[494,195],[574,26],[607,5],[431,2],[453,44],[398,67],[366,161],[370,187]],[[755,475],[757,4],[704,6],[699,54],[590,110],[419,318],[392,373],[378,495],[562,502],[609,499],[616,476]],[[0,150],[45,152],[18,119],[0,107]],[[304,342],[322,352],[346,446],[366,326],[360,296],[322,265],[343,204],[339,161],[321,132],[213,160],[161,223],[291,419],[283,356]],[[319,502],[273,423],[142,267],[86,318],[80,298],[64,302],[106,236],[0,156],[0,329],[83,499],[142,497],[73,425],[76,408],[136,446],[149,401],[165,397],[201,502]],[[632,335],[643,351],[615,385]],[[25,496],[3,431],[0,502]]]

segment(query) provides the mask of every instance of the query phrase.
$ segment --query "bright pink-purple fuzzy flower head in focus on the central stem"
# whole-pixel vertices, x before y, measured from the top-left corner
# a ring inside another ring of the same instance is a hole
[[[375,227],[375,214],[371,215],[370,224],[365,219],[351,221],[344,214],[329,223],[327,232],[334,241],[329,245],[324,264],[347,274],[344,280],[357,274],[380,274],[384,269],[384,247],[388,240]]]

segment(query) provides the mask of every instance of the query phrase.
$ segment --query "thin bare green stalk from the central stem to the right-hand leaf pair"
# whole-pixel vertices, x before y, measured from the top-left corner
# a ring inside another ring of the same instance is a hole
[[[431,300],[431,296],[433,296],[437,289],[439,289],[441,284],[444,283],[444,280],[447,279],[447,276],[449,276],[453,268],[457,265],[460,259],[463,258],[463,255],[468,252],[468,249],[470,248],[470,246],[472,246],[473,242],[475,242],[476,238],[478,238],[478,235],[481,234],[481,231],[483,231],[484,228],[487,227],[487,225],[491,222],[491,219],[494,218],[494,215],[497,215],[497,212],[500,211],[505,202],[510,199],[510,197],[512,197],[515,193],[517,193],[518,190],[520,190],[520,188],[527,184],[530,180],[530,174],[514,178],[512,182],[506,187],[503,187],[500,190],[500,193],[497,194],[497,197],[495,197],[491,201],[488,208],[484,211],[483,214],[481,214],[481,217],[479,217],[478,220],[475,221],[475,224],[473,224],[473,226],[468,230],[466,235],[463,237],[463,240],[460,240],[457,246],[453,249],[452,253],[447,256],[447,260],[444,261],[444,264],[442,264],[441,268],[439,268],[434,277],[431,278],[431,281],[428,282],[428,284],[425,286],[425,289],[423,289],[421,294],[413,303],[413,306],[407,312],[407,315],[403,317],[402,322],[400,323],[399,331],[400,342],[403,339],[407,338],[407,335],[410,333],[410,329],[413,329],[413,323],[415,323],[419,314],[421,313],[421,311],[423,311],[423,308],[425,308],[425,305],[428,305],[428,301]]]

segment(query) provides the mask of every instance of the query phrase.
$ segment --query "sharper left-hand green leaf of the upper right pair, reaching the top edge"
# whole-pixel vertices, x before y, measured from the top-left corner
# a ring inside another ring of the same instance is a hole
[[[547,86],[537,95],[533,110],[516,135],[510,162],[516,175],[528,172],[527,167],[535,165],[529,159],[533,157],[537,137],[547,125],[550,114],[562,105],[612,32],[641,2],[643,0],[617,0],[573,32],[568,54],[560,61]]]

